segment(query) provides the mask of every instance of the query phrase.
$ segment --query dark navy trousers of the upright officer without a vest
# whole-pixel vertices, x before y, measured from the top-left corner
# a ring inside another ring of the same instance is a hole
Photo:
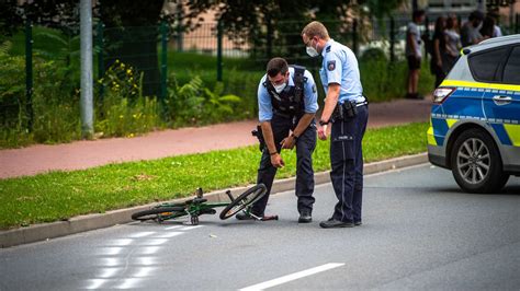
[[[330,179],[338,198],[332,218],[343,222],[361,221],[363,198],[362,140],[369,120],[368,105],[358,115],[332,124],[330,133]]]

